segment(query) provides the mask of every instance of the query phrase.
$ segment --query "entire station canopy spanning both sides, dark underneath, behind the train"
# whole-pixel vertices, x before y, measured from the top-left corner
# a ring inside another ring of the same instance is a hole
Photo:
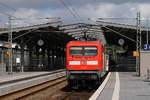
[[[21,42],[23,39],[27,43],[35,44],[39,39],[47,42],[64,43],[70,40],[78,40],[86,34],[87,39],[100,39],[104,44],[119,45],[119,41],[124,42],[124,46],[129,50],[136,50],[136,25],[119,24],[112,22],[97,21],[96,23],[74,23],[62,25],[60,21],[34,25],[29,27],[13,28],[13,41]],[[142,44],[146,43],[146,33],[149,28],[141,27]],[[9,29],[1,29],[0,40],[7,41]],[[101,33],[101,34],[100,34]],[[52,43],[53,44],[53,43]]]

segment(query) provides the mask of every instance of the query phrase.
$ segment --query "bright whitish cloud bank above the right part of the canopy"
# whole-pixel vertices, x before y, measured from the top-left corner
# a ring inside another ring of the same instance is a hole
[[[88,4],[85,7],[78,8],[77,10],[83,19],[124,18],[108,21],[126,24],[136,24],[136,20],[133,20],[132,18],[137,17],[136,14],[138,11],[141,12],[142,18],[150,17],[150,3],[100,3],[97,5]]]

